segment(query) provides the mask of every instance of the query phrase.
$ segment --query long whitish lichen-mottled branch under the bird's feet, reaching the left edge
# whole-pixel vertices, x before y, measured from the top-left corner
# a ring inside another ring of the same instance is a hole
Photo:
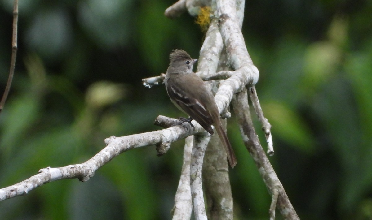
[[[159,118],[158,120],[161,121]],[[0,189],[0,201],[19,195],[26,195],[36,187],[59,179],[78,178],[80,181],[87,181],[93,177],[97,169],[125,151],[143,146],[171,143],[198,132],[205,132],[198,123],[192,123],[195,129],[191,129],[191,126],[187,125],[188,123],[184,123],[182,126],[173,126],[153,132],[106,138],[105,143],[107,146],[88,161],[82,164],[40,169],[39,174],[15,185]]]

